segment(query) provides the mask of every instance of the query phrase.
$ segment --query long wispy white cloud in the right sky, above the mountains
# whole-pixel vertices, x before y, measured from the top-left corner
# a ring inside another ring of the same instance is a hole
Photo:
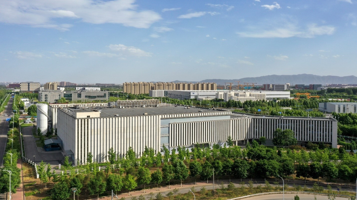
[[[285,25],[278,24],[276,26],[278,27],[267,30],[260,30],[260,27],[256,27],[255,30],[251,32],[237,32],[237,34],[241,37],[253,38],[313,38],[318,35],[332,35],[335,32],[335,27],[333,26],[317,26],[316,24],[310,24],[305,29],[293,23],[286,23]]]

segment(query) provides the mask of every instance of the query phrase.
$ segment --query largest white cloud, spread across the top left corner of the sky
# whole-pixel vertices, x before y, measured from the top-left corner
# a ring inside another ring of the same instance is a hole
[[[11,0],[0,1],[0,22],[33,27],[54,28],[66,31],[72,25],[66,21],[102,24],[117,23],[123,26],[149,28],[161,16],[151,10],[137,11],[135,0]]]

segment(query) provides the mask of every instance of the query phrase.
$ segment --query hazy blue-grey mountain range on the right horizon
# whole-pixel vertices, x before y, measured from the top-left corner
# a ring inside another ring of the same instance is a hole
[[[297,74],[297,75],[267,75],[262,77],[249,77],[241,79],[206,79],[201,81],[172,81],[174,83],[217,83],[217,85],[224,85],[225,83],[233,83],[237,85],[244,83],[254,83],[258,85],[262,84],[285,84],[290,83],[290,85],[296,84],[357,84],[357,77],[351,75],[346,77],[338,76],[318,76],[313,74]]]

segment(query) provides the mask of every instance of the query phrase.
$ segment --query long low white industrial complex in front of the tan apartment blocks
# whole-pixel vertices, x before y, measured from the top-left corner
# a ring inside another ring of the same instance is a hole
[[[149,90],[152,97],[167,96],[172,99],[223,99],[224,101],[290,99],[290,91],[262,90]]]

